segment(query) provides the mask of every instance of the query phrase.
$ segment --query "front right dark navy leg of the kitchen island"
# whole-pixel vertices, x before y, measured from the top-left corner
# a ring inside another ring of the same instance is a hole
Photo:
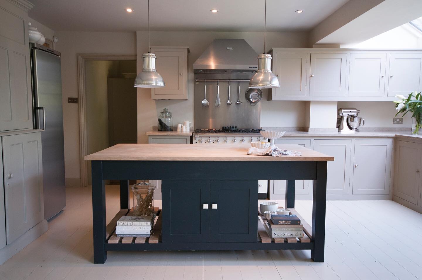
[[[311,250],[311,258],[315,262],[324,262],[327,162],[317,162],[317,179],[314,180],[313,197],[311,241],[314,242],[314,249]]]

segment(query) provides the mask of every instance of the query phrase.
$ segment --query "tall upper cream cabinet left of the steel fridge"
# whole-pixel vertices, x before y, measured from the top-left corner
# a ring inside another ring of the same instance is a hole
[[[0,131],[32,128],[27,12],[0,0]]]

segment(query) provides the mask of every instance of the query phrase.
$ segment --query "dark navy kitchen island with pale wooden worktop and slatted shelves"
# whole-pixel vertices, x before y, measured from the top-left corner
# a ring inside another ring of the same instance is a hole
[[[104,263],[108,250],[283,249],[308,249],[314,261],[324,261],[327,161],[334,158],[300,145],[279,148],[302,156],[251,156],[244,147],[189,144],[118,144],[85,156],[92,161],[94,262]],[[148,242],[111,242],[116,220],[130,210],[133,179],[162,180],[163,209]],[[314,180],[312,227],[302,219],[306,238],[268,236],[257,211],[258,179],[287,180],[285,206],[292,213],[295,180]],[[120,180],[121,210],[108,225],[104,180]]]

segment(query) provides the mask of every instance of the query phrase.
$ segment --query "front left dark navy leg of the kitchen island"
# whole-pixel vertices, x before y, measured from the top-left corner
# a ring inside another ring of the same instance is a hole
[[[92,161],[92,233],[94,235],[94,263],[107,259],[106,242],[106,186],[103,181],[103,162]]]

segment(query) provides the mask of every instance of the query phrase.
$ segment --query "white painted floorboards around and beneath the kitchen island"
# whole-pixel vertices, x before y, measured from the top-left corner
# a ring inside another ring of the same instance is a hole
[[[422,279],[422,215],[392,201],[327,201],[324,263],[312,262],[310,250],[246,250],[110,251],[105,264],[92,264],[91,194],[66,188],[66,209],[0,266],[0,279]],[[119,210],[118,186],[106,187],[106,204],[108,222]],[[312,223],[311,201],[296,209]]]

